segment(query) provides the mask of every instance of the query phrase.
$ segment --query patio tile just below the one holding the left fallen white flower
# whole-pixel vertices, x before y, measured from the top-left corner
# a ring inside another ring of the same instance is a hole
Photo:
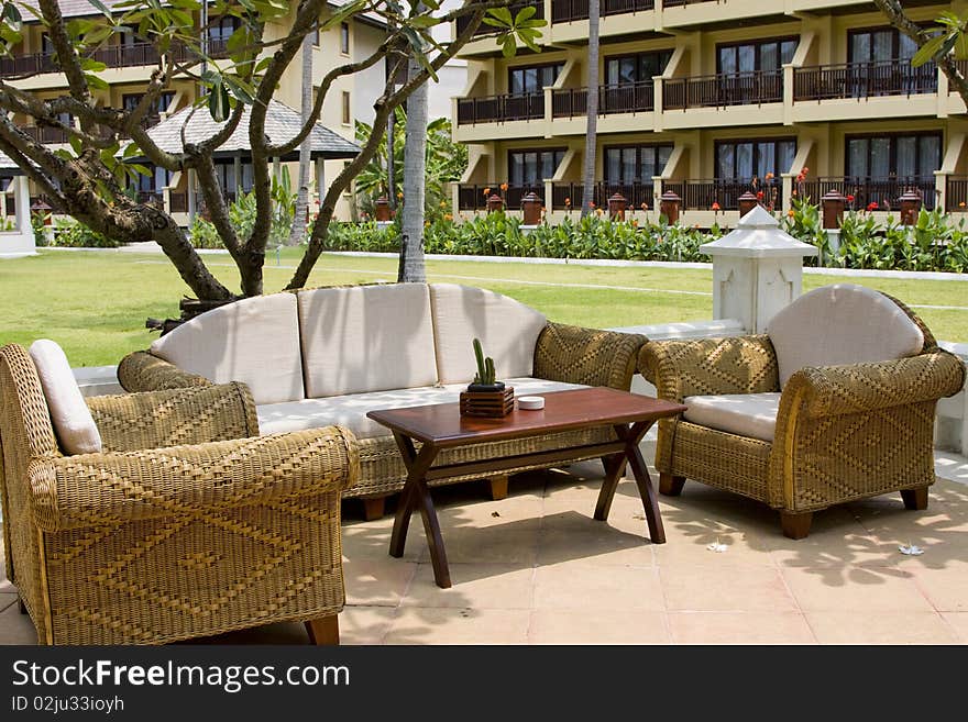
[[[772,567],[680,565],[660,567],[670,611],[795,611],[796,604]]]

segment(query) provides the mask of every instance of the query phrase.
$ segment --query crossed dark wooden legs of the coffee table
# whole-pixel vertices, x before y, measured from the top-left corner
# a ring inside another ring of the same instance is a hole
[[[662,518],[659,513],[659,499],[656,488],[649,477],[649,470],[639,451],[639,442],[651,427],[652,421],[640,421],[632,424],[616,424],[613,426],[620,442],[620,451],[602,457],[605,465],[605,480],[598,492],[598,502],[595,506],[595,519],[606,521],[615,497],[615,489],[623,476],[626,464],[631,467],[642,507],[646,511],[646,520],[649,526],[649,538],[652,544],[666,543],[666,531],[662,527]],[[427,486],[426,475],[433,465],[440,449],[433,444],[425,443],[417,452],[414,442],[408,436],[394,432],[394,438],[400,449],[404,464],[407,467],[407,481],[400,492],[399,504],[394,518],[394,529],[389,541],[391,556],[402,557],[407,542],[407,530],[410,525],[410,515],[419,510],[424,520],[424,532],[427,535],[427,544],[430,547],[430,560],[433,565],[433,579],[437,586],[447,589],[451,586],[450,569],[447,564],[447,551],[443,547],[443,536],[440,533],[440,523],[437,520],[437,511],[433,500],[430,498],[430,489]],[[614,448],[614,445],[613,445]],[[576,455],[581,447],[575,449]],[[587,457],[582,457],[587,458]],[[527,455],[515,457],[518,464],[527,464]]]

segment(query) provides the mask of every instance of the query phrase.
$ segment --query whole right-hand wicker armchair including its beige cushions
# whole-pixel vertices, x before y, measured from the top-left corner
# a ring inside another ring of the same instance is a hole
[[[860,286],[801,297],[767,334],[647,344],[639,368],[689,406],[659,422],[662,493],[686,479],[781,512],[792,538],[813,513],[900,491],[924,509],[934,482],[934,411],[965,368],[903,303]]]

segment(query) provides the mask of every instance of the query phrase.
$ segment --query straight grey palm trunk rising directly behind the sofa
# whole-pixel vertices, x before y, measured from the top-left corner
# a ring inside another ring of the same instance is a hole
[[[409,73],[420,73],[410,60]],[[413,77],[413,75],[410,76]],[[427,84],[407,99],[407,131],[404,143],[404,218],[400,234],[398,282],[424,282],[424,171],[427,165]]]

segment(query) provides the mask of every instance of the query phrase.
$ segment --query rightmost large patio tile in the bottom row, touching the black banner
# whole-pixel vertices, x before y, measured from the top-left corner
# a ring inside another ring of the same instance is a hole
[[[955,631],[935,612],[806,612],[821,644],[953,644]]]

